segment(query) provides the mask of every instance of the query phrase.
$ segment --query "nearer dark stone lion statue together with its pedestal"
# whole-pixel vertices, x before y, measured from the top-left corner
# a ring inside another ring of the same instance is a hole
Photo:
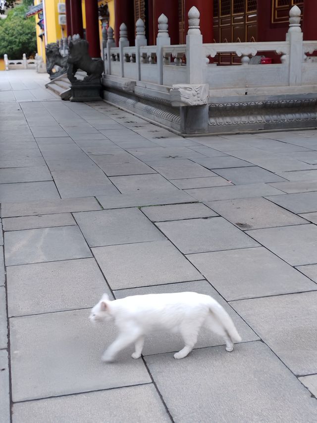
[[[93,60],[88,54],[88,42],[78,39],[70,41],[67,60],[67,76],[71,82],[70,101],[98,101],[101,98],[101,76],[104,71],[104,62],[101,59]],[[75,74],[78,69],[87,72],[87,76],[78,80]]]

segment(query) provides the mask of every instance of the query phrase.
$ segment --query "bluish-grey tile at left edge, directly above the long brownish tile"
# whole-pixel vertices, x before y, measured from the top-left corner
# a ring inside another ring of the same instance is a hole
[[[53,182],[1,183],[0,202],[23,202],[60,198]]]

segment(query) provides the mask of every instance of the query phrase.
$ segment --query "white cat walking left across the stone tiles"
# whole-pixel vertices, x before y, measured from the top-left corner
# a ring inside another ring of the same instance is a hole
[[[221,335],[226,351],[240,342],[231,318],[224,308],[208,295],[195,292],[175,294],[149,294],[110,301],[104,294],[91,311],[91,321],[113,319],[119,329],[116,340],[106,349],[102,360],[111,362],[116,354],[128,345],[135,344],[134,359],[141,357],[144,336],[156,330],[179,332],[185,347],[174,354],[183,359],[194,348],[201,326]]]

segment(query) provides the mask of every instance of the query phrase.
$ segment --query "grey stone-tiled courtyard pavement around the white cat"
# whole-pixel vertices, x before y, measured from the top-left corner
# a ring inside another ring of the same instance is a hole
[[[37,95],[0,72],[1,423],[316,422],[317,131],[185,139],[28,72]],[[180,291],[224,305],[234,352],[156,334],[101,362],[103,292]]]

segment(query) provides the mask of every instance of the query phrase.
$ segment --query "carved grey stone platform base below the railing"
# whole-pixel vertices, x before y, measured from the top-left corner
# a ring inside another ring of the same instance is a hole
[[[102,85],[107,103],[183,136],[317,127],[317,92],[311,87],[279,88],[279,93],[268,88],[250,95],[226,90],[221,97],[217,90],[209,92],[207,104],[174,106],[171,87],[112,75]]]

